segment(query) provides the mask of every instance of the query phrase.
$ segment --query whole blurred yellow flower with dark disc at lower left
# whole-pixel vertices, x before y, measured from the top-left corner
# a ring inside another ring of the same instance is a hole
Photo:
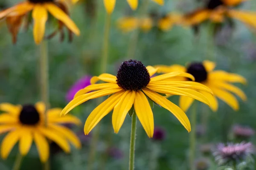
[[[0,133],[9,132],[1,144],[1,157],[6,159],[12,148],[19,142],[19,150],[25,156],[32,145],[38,150],[42,162],[49,158],[49,144],[47,139],[58,144],[65,152],[70,152],[71,142],[76,148],[81,143],[71,130],[64,127],[62,123],[73,123],[79,125],[81,122],[75,116],[60,117],[61,108],[52,108],[47,111],[47,127],[45,126],[45,105],[38,102],[33,105],[12,105],[1,103],[0,110]]]

